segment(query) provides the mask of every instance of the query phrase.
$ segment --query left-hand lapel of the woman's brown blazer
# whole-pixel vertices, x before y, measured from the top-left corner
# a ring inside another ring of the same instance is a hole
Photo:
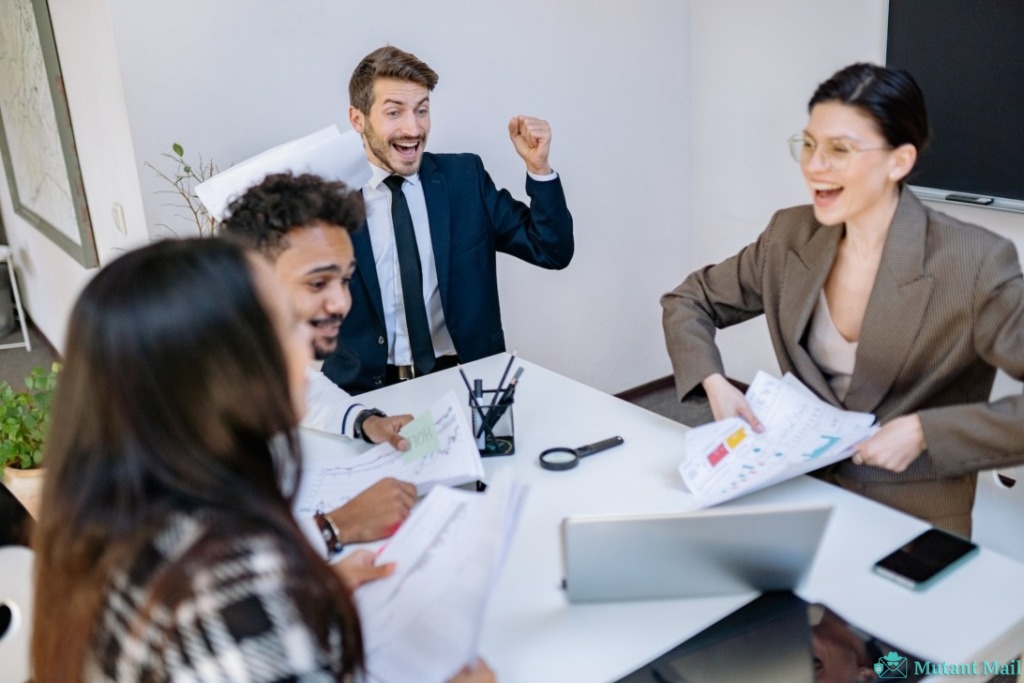
[[[841,226],[821,225],[807,243],[785,255],[778,312],[779,332],[796,374],[812,391],[836,405],[840,404],[839,398],[801,341],[818,293],[836,260],[842,234]]]

